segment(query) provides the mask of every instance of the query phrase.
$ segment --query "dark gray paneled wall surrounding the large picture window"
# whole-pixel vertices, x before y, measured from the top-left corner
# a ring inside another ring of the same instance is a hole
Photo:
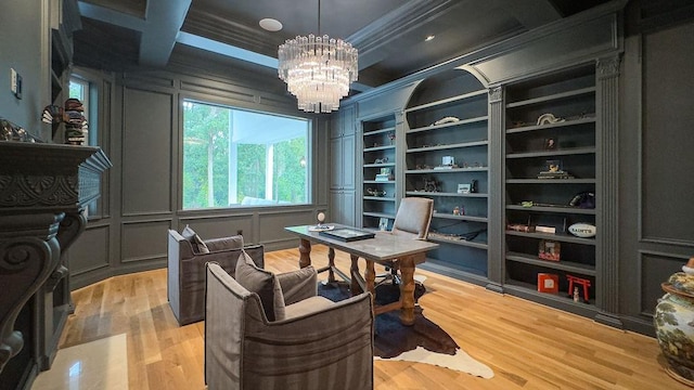
[[[68,253],[72,284],[81,287],[108,276],[166,266],[167,230],[190,224],[203,238],[222,237],[243,231],[247,243],[264,244],[266,250],[298,247],[284,226],[312,223],[319,210],[327,208],[327,116],[312,116],[296,108],[294,98],[277,94],[277,77],[266,78],[234,73],[214,64],[181,64],[162,72],[133,72],[103,75],[77,69],[82,77],[102,86],[100,100],[112,115],[99,120],[100,143],[114,167],[101,198],[102,212]],[[202,76],[204,75],[204,76]],[[115,80],[113,93],[108,94]],[[265,89],[264,86],[270,86]],[[270,92],[269,92],[270,91]],[[316,118],[311,144],[313,155],[313,204],[286,207],[223,208],[187,210],[181,208],[180,174],[182,156],[183,99],[242,108]],[[107,117],[112,117],[108,120]],[[298,262],[298,250],[296,259]]]

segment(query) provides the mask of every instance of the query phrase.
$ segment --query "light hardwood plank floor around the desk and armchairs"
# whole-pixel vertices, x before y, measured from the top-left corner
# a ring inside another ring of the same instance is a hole
[[[313,264],[326,249],[314,246]],[[348,256],[337,264],[348,270]],[[297,269],[298,249],[266,253],[266,269]],[[363,269],[363,263],[362,263]],[[426,271],[424,315],[492,379],[408,362],[375,362],[375,389],[689,389],[671,379],[655,339]],[[319,275],[325,277],[325,274]],[[113,277],[73,292],[61,348],[126,334],[131,390],[205,389],[204,323],[179,327],[166,270]]]

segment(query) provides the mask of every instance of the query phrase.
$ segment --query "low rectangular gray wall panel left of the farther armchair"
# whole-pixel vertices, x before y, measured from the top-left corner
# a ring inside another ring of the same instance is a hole
[[[169,220],[128,222],[120,226],[121,262],[165,259]]]

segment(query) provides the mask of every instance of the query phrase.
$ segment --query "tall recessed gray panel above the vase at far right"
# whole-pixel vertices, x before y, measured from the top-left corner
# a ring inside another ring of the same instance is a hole
[[[643,237],[694,247],[694,24],[643,40]]]

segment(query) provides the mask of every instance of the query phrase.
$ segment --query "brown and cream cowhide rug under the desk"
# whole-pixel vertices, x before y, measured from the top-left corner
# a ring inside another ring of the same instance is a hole
[[[426,292],[423,284],[414,289],[415,302]],[[349,285],[345,282],[318,284],[318,294],[339,301],[349,297]],[[386,304],[400,299],[400,288],[385,283],[376,287],[376,304]],[[408,361],[433,364],[481,378],[492,378],[493,372],[460,349],[446,330],[422,314],[423,309],[415,303],[414,325],[400,323],[399,312],[378,314],[374,323],[374,359]]]

